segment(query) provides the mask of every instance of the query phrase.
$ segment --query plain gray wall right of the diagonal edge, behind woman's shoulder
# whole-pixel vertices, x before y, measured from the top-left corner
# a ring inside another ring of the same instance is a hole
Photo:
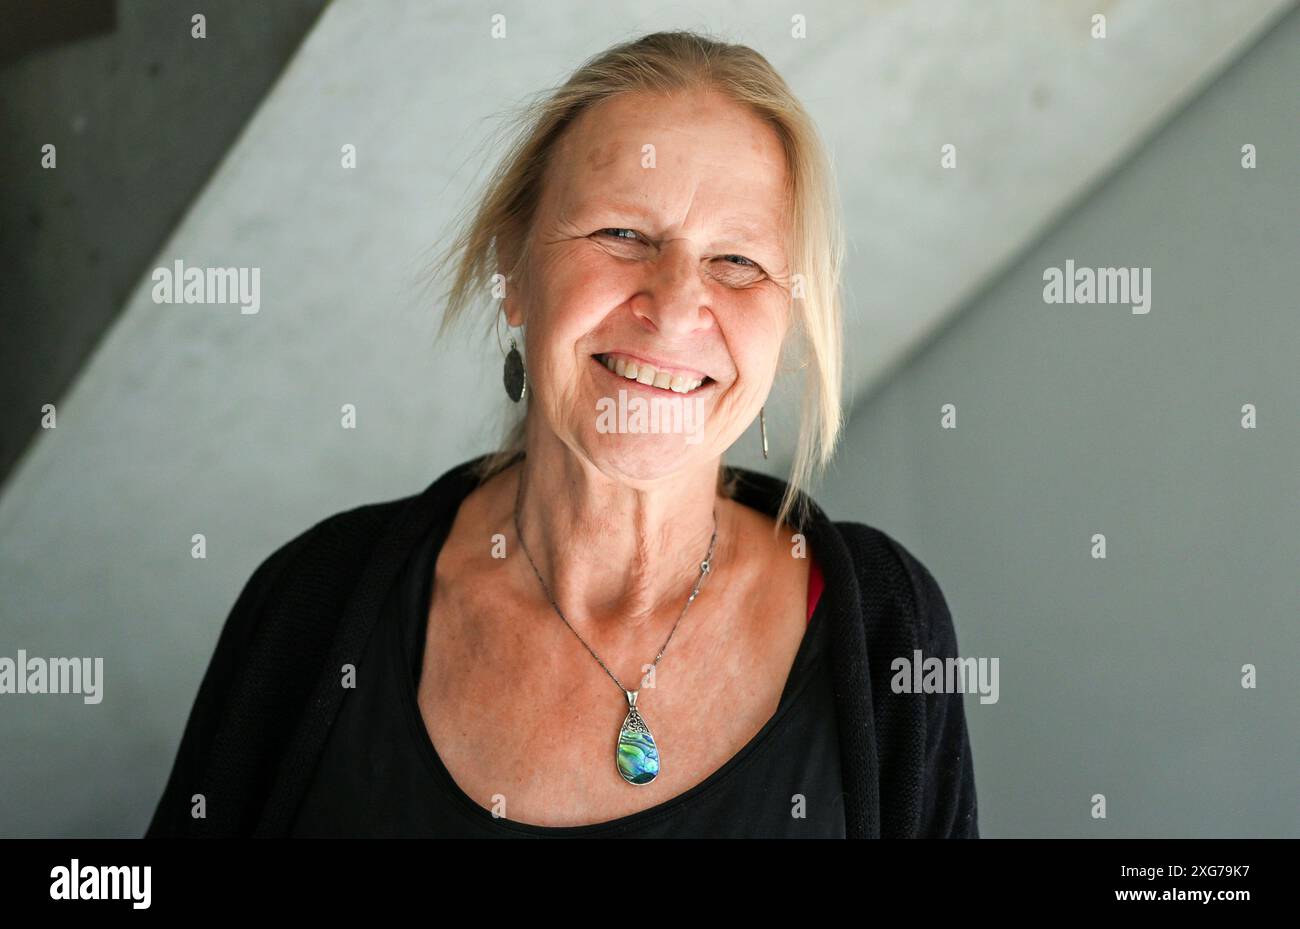
[[[861,404],[820,489],[1000,659],[985,835],[1300,835],[1296,48],[1292,14]],[[1152,268],[1149,314],[1045,304],[1066,259]]]

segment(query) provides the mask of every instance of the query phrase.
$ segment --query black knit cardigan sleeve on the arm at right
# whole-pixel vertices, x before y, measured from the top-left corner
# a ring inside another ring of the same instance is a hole
[[[956,657],[957,630],[939,583],[915,557],[905,555],[902,560],[915,591],[923,655]],[[966,730],[963,695],[928,694],[926,702],[926,765],[916,837],[979,838],[975,764]]]

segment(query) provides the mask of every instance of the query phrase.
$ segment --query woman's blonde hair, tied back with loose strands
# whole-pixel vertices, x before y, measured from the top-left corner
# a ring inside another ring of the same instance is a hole
[[[807,516],[805,489],[814,472],[826,468],[842,425],[842,308],[840,274],[844,229],[829,159],[811,117],[785,81],[754,49],[728,44],[698,32],[653,32],[624,42],[584,62],[559,87],[542,91],[515,116],[514,140],[489,177],[482,195],[469,204],[452,230],[455,239],[434,265],[436,275],[450,272],[438,329],[463,317],[486,296],[500,270],[503,255],[514,253],[506,281],[517,279],[528,257],[528,229],[541,200],[547,162],[564,130],[589,107],[630,91],[672,94],[714,90],[748,107],[780,138],[786,161],[792,269],[792,334],[802,344],[805,370],[798,440],[786,492],[776,516],[776,530],[794,513],[802,526]],[[519,248],[504,244],[523,243]],[[490,301],[490,330],[497,331],[497,301]],[[783,346],[783,355],[784,355]],[[526,412],[525,412],[526,416]],[[525,416],[520,416],[494,453],[485,457],[478,479],[512,464],[524,448]],[[719,491],[731,495],[736,474],[725,464]]]

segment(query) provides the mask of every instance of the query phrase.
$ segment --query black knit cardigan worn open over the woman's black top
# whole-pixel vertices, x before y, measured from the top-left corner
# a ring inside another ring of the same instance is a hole
[[[257,566],[221,630],[146,838],[289,833],[343,699],[342,665],[358,664],[417,541],[474,489],[477,461],[421,494],[335,513]],[[775,517],[785,483],[731,470],[734,498]],[[957,655],[939,585],[883,531],[832,522],[807,502],[802,533],[826,577],[849,838],[978,838],[962,694],[889,686],[896,657]]]

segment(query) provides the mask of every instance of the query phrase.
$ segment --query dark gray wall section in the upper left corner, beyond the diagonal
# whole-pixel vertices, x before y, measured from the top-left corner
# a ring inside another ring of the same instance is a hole
[[[6,45],[70,40],[0,68],[0,483],[324,4],[34,3],[17,23],[5,10]]]

